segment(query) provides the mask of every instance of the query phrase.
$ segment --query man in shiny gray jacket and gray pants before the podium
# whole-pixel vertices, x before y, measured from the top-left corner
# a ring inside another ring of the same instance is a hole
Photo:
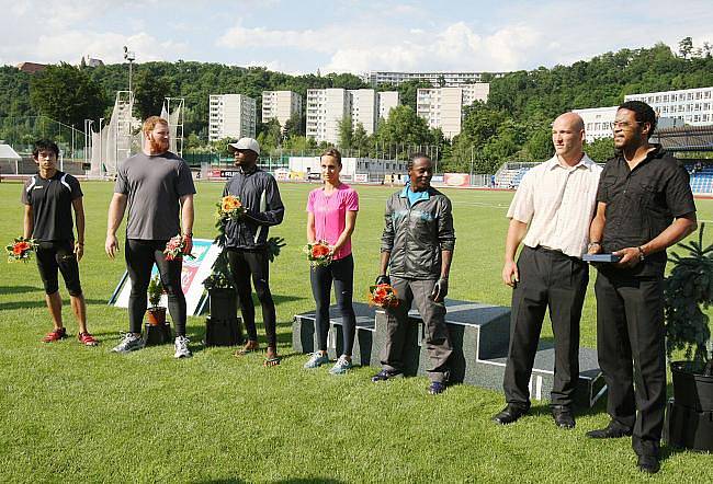
[[[423,319],[426,344],[431,365],[429,392],[443,392],[451,342],[445,326],[448,278],[451,269],[455,231],[451,200],[431,187],[433,163],[416,154],[408,163],[409,183],[386,203],[381,246],[381,275],[376,284],[391,284],[398,306],[386,313],[387,339],[382,354],[382,371],[372,381],[401,374],[408,311],[416,302]],[[388,269],[389,275],[386,275]]]

